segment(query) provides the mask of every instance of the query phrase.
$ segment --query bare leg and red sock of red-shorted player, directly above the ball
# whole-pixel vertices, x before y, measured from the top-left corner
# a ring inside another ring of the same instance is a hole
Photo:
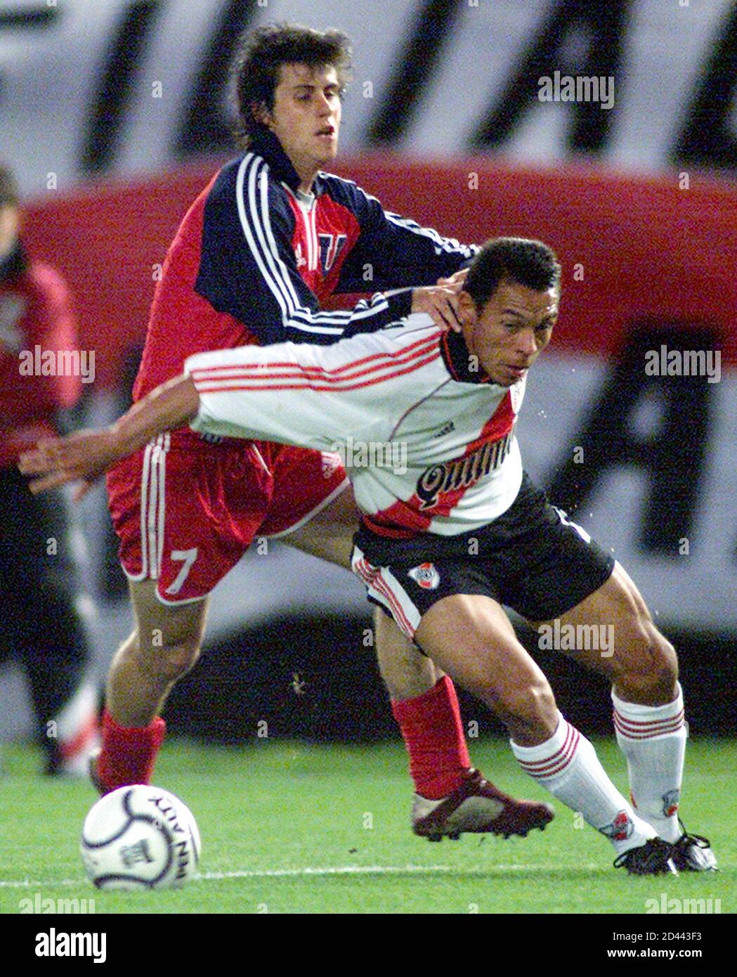
[[[166,726],[159,712],[174,683],[199,656],[208,599],[169,607],[156,581],[129,581],[136,629],[120,646],[107,678],[102,751],[92,759],[102,792],[146,784]]]

